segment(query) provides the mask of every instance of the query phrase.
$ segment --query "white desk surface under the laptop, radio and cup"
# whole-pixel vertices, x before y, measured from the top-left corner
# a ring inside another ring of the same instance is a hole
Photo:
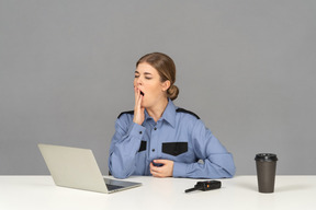
[[[316,209],[316,176],[276,176],[274,194],[260,194],[256,176],[222,179],[222,188],[184,194],[198,179],[131,177],[142,187],[99,194],[54,185],[50,176],[0,176],[1,210],[292,210]]]

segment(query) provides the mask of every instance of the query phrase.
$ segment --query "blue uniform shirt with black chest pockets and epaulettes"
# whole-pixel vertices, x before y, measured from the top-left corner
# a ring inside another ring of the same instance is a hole
[[[114,177],[150,175],[149,164],[157,159],[174,162],[173,177],[234,176],[233,155],[196,115],[177,108],[171,100],[157,124],[146,109],[142,126],[133,122],[133,117],[134,112],[125,112],[115,122],[109,158]]]

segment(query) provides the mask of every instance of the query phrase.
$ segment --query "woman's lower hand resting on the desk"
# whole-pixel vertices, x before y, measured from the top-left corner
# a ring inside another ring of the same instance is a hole
[[[154,177],[170,177],[173,174],[173,161],[170,160],[154,160],[155,164],[161,164],[162,166],[155,166],[150,163],[150,173]]]

